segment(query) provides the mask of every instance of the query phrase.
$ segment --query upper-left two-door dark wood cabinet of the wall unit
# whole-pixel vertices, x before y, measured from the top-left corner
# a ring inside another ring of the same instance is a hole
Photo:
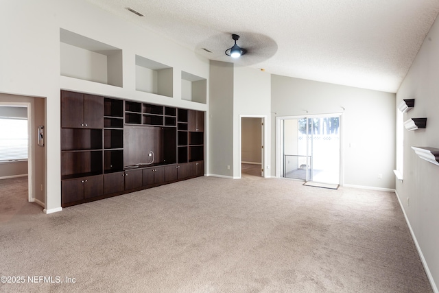
[[[104,97],[61,91],[62,128],[104,128]]]

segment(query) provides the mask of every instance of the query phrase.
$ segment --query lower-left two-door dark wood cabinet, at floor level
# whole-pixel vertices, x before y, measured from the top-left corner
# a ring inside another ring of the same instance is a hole
[[[104,194],[104,180],[102,175],[62,180],[61,192],[61,204],[102,196]]]

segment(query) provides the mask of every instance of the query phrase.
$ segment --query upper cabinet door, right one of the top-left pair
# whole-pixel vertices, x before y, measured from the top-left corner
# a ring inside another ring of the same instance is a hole
[[[84,128],[104,128],[104,97],[84,95]]]

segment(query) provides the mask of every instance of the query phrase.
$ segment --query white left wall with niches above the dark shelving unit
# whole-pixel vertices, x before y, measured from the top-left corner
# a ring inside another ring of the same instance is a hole
[[[122,49],[123,86],[61,76],[60,28]],[[47,98],[47,213],[61,205],[60,89],[208,110],[206,104],[181,99],[181,71],[208,79],[209,60],[84,0],[3,0],[0,36],[0,93]],[[174,68],[174,97],[136,91],[136,54]]]

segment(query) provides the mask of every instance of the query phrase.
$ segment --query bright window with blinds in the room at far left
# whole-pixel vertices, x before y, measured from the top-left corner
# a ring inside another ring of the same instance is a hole
[[[27,119],[0,117],[0,162],[27,160]]]

